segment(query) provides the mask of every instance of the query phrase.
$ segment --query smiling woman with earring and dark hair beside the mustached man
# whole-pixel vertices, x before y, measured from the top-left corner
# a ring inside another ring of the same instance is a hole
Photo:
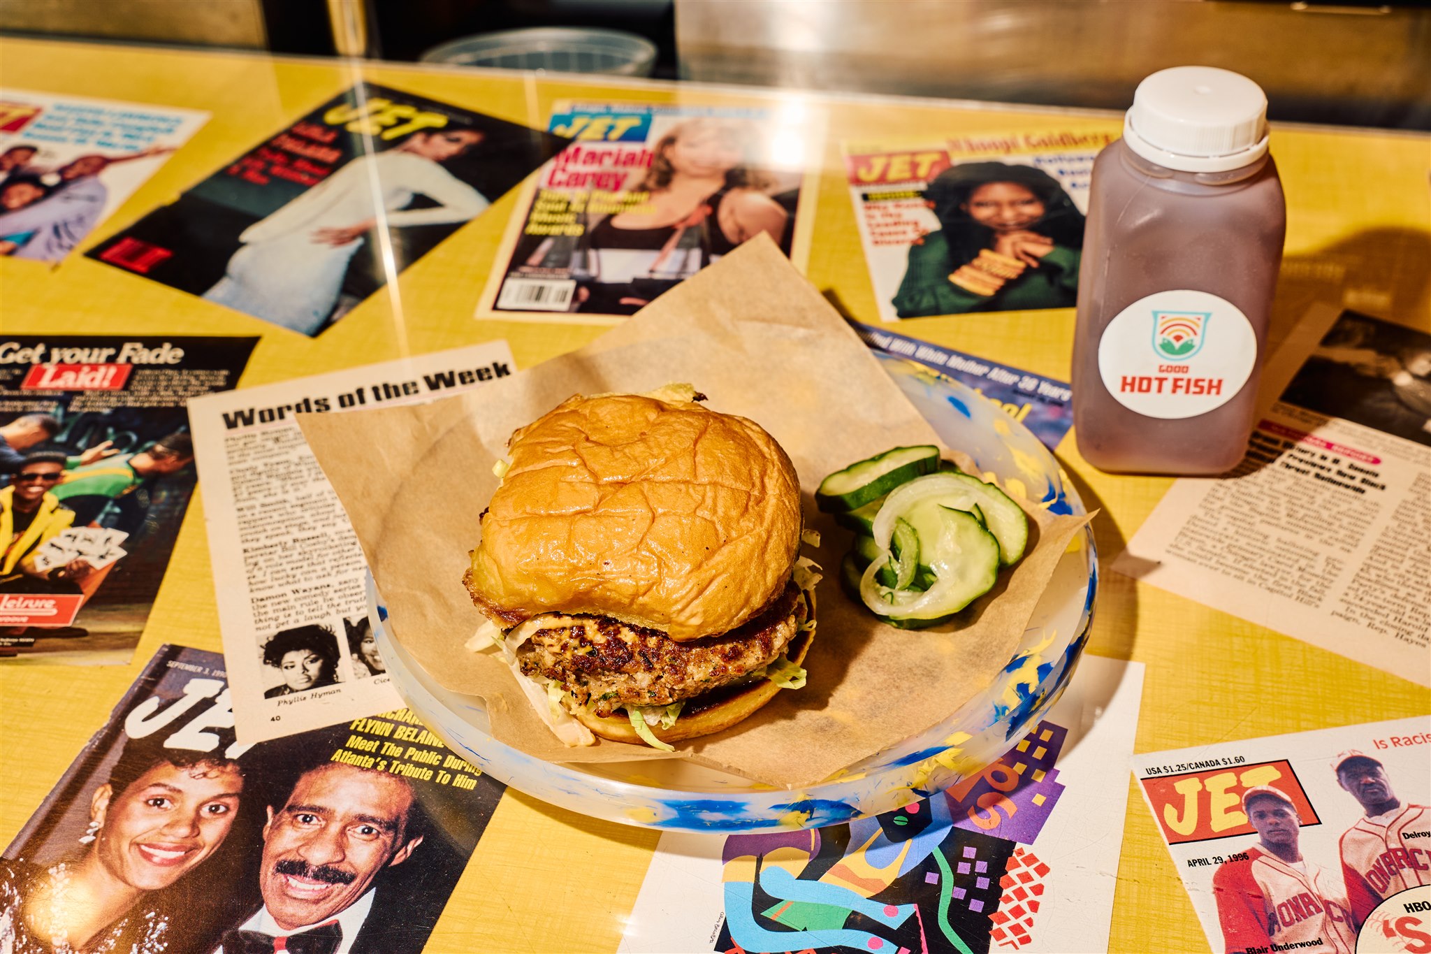
[[[220,754],[130,739],[87,792],[89,827],[72,851],[52,864],[0,858],[0,950],[180,950],[185,925],[165,898],[223,845],[242,794],[243,771]]]

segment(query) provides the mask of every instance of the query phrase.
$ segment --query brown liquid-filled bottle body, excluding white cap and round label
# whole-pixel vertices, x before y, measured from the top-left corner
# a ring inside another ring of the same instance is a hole
[[[1271,156],[1241,170],[1188,173],[1156,166],[1122,140],[1103,149],[1093,164],[1073,343],[1073,426],[1083,459],[1100,471],[1183,475],[1222,473],[1242,459],[1285,232]],[[1169,289],[1231,302],[1256,335],[1246,382],[1221,408],[1192,418],[1138,413],[1099,373],[1108,323]]]

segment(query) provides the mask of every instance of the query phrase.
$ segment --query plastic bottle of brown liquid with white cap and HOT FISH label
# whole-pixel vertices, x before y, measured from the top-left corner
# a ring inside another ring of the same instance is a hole
[[[1093,163],[1073,339],[1085,461],[1213,475],[1242,459],[1285,232],[1256,83],[1202,66],[1145,79]]]

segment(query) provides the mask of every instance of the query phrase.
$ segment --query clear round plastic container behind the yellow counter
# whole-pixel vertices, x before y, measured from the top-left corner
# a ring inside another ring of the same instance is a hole
[[[432,47],[421,59],[502,70],[650,76],[655,53],[654,43],[621,30],[531,27],[462,37]]]

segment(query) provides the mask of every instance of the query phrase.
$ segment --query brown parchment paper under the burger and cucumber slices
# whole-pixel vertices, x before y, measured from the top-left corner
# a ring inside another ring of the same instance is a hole
[[[824,568],[809,684],[726,732],[647,747],[562,745],[511,671],[464,642],[482,622],[462,586],[478,515],[512,431],[574,393],[690,382],[707,406],[764,426],[800,473]],[[1007,664],[1055,565],[1086,522],[1020,501],[1030,549],[957,628],[902,631],[846,598],[850,533],[816,512],[824,475],[897,445],[939,443],[854,332],[773,242],[751,240],[582,350],[465,395],[299,422],[362,542],[394,636],[448,689],[481,697],[492,734],[560,762],[691,758],[776,787],[817,782],[950,715]],[[966,459],[967,461],[967,459]]]

